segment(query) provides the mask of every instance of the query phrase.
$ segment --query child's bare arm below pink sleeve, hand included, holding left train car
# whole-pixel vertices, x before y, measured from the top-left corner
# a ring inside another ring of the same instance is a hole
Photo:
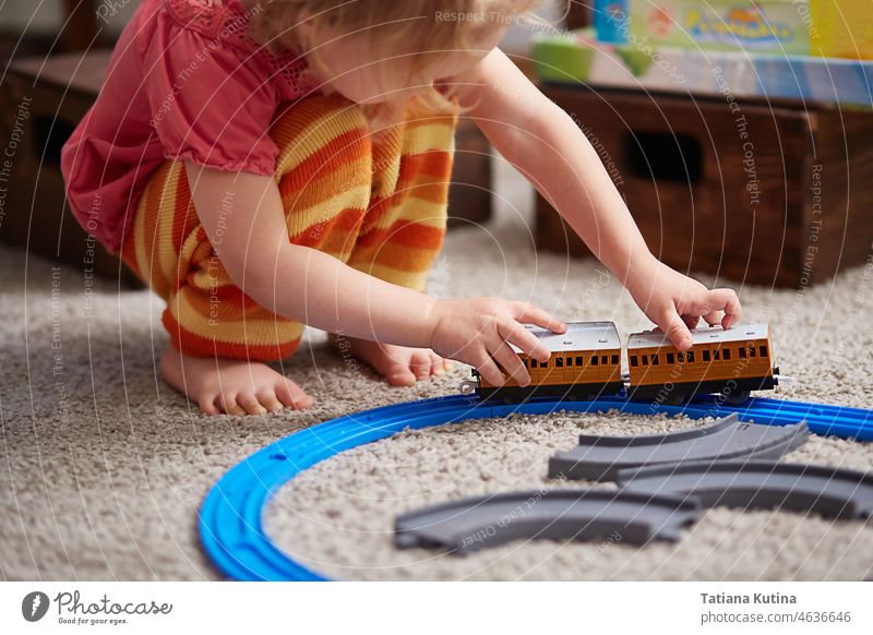
[[[565,328],[526,302],[435,301],[292,244],[272,177],[222,171],[190,160],[184,166],[198,217],[228,276],[278,315],[349,337],[432,348],[473,364],[497,384],[504,380],[494,360],[519,383],[529,382],[507,342],[539,360],[549,359],[548,348],[522,324]]]

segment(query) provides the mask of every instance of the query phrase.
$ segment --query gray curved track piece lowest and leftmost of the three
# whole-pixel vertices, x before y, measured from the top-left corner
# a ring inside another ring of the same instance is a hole
[[[466,553],[512,540],[591,540],[617,536],[630,544],[679,540],[697,519],[693,499],[617,490],[551,490],[476,496],[398,516],[397,547]]]

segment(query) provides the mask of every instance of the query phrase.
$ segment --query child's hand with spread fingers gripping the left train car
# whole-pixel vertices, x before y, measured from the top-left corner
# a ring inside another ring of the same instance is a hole
[[[551,356],[548,347],[524,324],[536,324],[554,333],[566,331],[564,323],[542,309],[500,298],[440,300],[434,304],[430,323],[430,347],[438,355],[474,366],[494,385],[505,381],[498,364],[519,385],[530,383],[527,369],[509,343],[538,361],[545,362]]]

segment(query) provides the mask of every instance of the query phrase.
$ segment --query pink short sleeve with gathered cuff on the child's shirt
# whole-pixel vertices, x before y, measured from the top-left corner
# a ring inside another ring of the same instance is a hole
[[[267,76],[235,48],[166,17],[143,56],[152,125],[170,159],[272,175],[267,134],[277,105]],[[251,68],[250,68],[251,67]]]

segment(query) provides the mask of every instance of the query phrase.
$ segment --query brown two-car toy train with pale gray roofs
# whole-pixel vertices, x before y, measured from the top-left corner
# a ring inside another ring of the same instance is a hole
[[[474,370],[461,392],[517,403],[540,396],[589,400],[624,391],[631,399],[671,405],[697,394],[720,394],[738,404],[751,391],[773,390],[780,379],[773,366],[767,324],[694,328],[692,348],[684,352],[663,333],[634,333],[627,339],[626,374],[622,374],[622,346],[612,322],[567,323],[561,334],[527,328],[551,350],[551,358],[542,363],[513,346],[530,373],[529,385],[519,386],[511,378],[493,385]]]

